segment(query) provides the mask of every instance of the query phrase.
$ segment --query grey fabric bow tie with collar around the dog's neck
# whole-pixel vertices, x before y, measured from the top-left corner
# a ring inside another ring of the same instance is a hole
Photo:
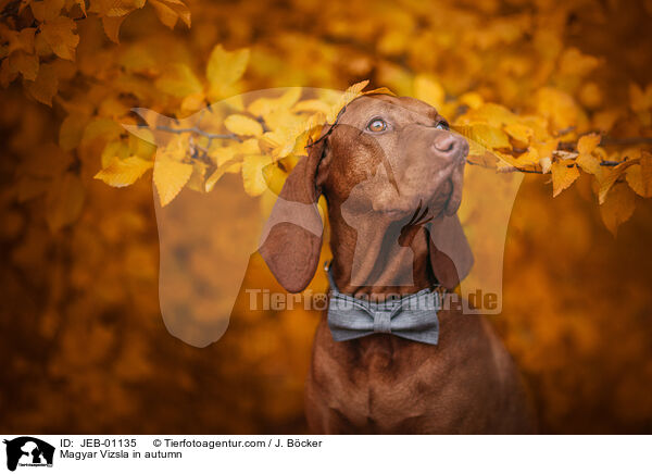
[[[336,341],[356,339],[374,333],[393,334],[418,342],[437,345],[441,298],[431,289],[398,300],[369,302],[339,292],[330,266],[326,264],[330,283],[328,327]]]

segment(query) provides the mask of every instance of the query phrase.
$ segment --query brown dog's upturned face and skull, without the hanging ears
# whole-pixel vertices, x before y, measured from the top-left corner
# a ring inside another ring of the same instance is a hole
[[[468,145],[419,100],[363,96],[317,148],[329,202],[347,201],[361,213],[396,220],[418,208],[432,216],[453,215],[460,207]]]

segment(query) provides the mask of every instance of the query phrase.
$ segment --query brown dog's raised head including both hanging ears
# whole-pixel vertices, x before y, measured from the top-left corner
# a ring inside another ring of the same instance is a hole
[[[422,101],[358,98],[288,176],[260,252],[286,289],[305,288],[319,258],[316,201],[324,194],[329,207],[360,219],[437,222],[430,261],[439,282],[452,288],[473,260],[455,216],[467,152],[466,140]]]

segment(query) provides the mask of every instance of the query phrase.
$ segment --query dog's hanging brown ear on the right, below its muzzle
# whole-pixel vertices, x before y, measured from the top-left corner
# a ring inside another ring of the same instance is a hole
[[[428,225],[430,265],[437,280],[453,289],[473,266],[473,253],[457,214],[442,215]]]

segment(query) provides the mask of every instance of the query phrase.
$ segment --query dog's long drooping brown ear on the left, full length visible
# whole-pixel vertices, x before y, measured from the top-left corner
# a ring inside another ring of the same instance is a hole
[[[310,146],[287,177],[263,229],[259,251],[283,287],[302,291],[315,274],[324,224],[317,210],[327,154],[327,138]]]

